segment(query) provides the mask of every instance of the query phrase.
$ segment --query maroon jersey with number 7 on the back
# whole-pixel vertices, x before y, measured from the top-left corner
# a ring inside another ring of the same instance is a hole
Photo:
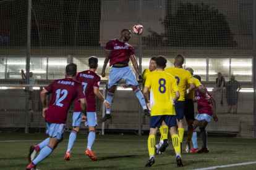
[[[87,112],[96,112],[95,94],[93,87],[100,87],[100,76],[94,71],[86,70],[77,74],[77,81],[83,85],[83,91],[85,92],[85,99],[87,102]],[[74,112],[82,112],[80,103],[75,100]]]

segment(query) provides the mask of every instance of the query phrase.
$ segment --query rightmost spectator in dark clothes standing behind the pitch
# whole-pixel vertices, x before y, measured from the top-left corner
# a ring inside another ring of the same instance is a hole
[[[226,97],[228,103],[228,114],[230,114],[231,108],[233,106],[233,114],[236,115],[237,111],[237,99],[239,91],[241,90],[241,85],[238,81],[235,80],[235,76],[231,75],[231,81],[227,83],[226,86]],[[237,90],[238,89],[238,90]]]

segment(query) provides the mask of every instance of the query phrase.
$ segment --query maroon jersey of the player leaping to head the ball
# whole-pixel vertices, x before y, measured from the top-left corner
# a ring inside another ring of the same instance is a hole
[[[106,44],[106,50],[112,51],[110,54],[109,65],[115,63],[129,63],[130,56],[134,55],[134,47],[127,42],[121,42],[119,39],[111,39]]]

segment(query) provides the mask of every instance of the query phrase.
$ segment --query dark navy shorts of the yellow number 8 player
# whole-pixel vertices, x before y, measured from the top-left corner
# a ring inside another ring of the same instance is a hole
[[[177,126],[176,115],[160,115],[160,116],[151,116],[150,118],[150,127],[160,127],[164,123],[168,127]]]

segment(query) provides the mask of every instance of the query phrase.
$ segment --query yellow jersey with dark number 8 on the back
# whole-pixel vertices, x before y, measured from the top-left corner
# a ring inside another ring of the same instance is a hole
[[[174,76],[156,71],[148,75],[145,86],[151,89],[151,116],[176,115],[172,102],[172,93],[178,91]]]

